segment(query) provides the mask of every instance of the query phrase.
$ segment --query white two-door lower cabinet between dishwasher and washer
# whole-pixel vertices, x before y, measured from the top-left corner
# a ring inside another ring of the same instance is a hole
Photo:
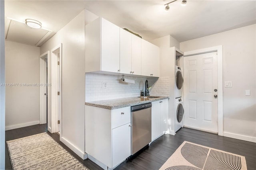
[[[151,141],[154,141],[158,137],[167,131],[168,122],[168,99],[152,102],[152,114],[151,114]]]

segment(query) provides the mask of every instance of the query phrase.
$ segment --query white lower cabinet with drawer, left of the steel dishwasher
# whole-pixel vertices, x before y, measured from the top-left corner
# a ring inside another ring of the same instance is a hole
[[[115,168],[131,155],[130,107],[85,106],[85,150],[103,169]]]

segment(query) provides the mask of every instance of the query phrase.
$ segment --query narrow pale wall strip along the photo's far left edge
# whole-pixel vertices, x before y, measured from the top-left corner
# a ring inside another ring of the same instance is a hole
[[[0,83],[5,83],[4,1],[0,1]],[[5,86],[0,86],[0,169],[5,168]]]

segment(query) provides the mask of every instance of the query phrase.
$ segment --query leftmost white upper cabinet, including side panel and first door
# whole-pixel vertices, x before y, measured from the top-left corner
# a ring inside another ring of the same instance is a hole
[[[120,28],[98,18],[85,26],[86,72],[119,72]]]

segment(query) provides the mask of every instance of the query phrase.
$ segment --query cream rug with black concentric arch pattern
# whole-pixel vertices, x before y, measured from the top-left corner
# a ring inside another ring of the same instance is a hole
[[[247,170],[245,157],[184,141],[160,170]]]

